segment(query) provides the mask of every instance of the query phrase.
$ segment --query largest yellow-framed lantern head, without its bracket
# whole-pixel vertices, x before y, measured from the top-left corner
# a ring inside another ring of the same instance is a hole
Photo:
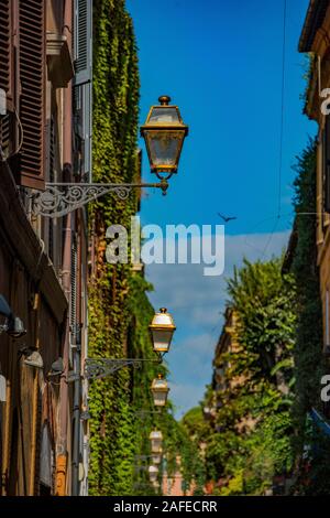
[[[177,106],[169,105],[170,97],[160,97],[161,106],[152,106],[141,134],[144,138],[150,166],[158,179],[166,180],[177,172],[188,126],[184,125]]]

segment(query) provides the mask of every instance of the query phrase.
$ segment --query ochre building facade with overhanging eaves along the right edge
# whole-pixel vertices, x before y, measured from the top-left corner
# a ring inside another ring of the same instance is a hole
[[[330,4],[311,0],[302,28],[299,52],[309,53],[310,74],[305,111],[318,123],[317,235],[323,348],[330,345]]]

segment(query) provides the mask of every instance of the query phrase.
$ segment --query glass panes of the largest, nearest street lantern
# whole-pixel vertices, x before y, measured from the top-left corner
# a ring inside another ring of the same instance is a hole
[[[176,169],[184,137],[184,131],[146,131],[152,165],[157,169],[162,166]]]

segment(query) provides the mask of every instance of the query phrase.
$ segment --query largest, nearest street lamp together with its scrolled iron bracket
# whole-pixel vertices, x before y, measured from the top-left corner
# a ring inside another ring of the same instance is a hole
[[[46,182],[45,191],[32,192],[32,212],[45,217],[62,217],[108,193],[127,199],[132,188],[158,187],[166,194],[167,180],[177,172],[178,162],[188,126],[184,125],[177,106],[169,106],[170,98],[160,97],[161,106],[153,106],[141,127],[150,166],[161,180],[158,183],[67,183]],[[164,175],[165,174],[165,175]]]

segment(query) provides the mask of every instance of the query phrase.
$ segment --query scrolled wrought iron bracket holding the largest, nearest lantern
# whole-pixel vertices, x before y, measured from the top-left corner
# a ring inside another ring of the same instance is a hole
[[[29,197],[35,216],[57,218],[109,193],[127,199],[132,188],[156,187],[165,195],[167,179],[158,183],[46,183],[45,191],[33,192]]]

